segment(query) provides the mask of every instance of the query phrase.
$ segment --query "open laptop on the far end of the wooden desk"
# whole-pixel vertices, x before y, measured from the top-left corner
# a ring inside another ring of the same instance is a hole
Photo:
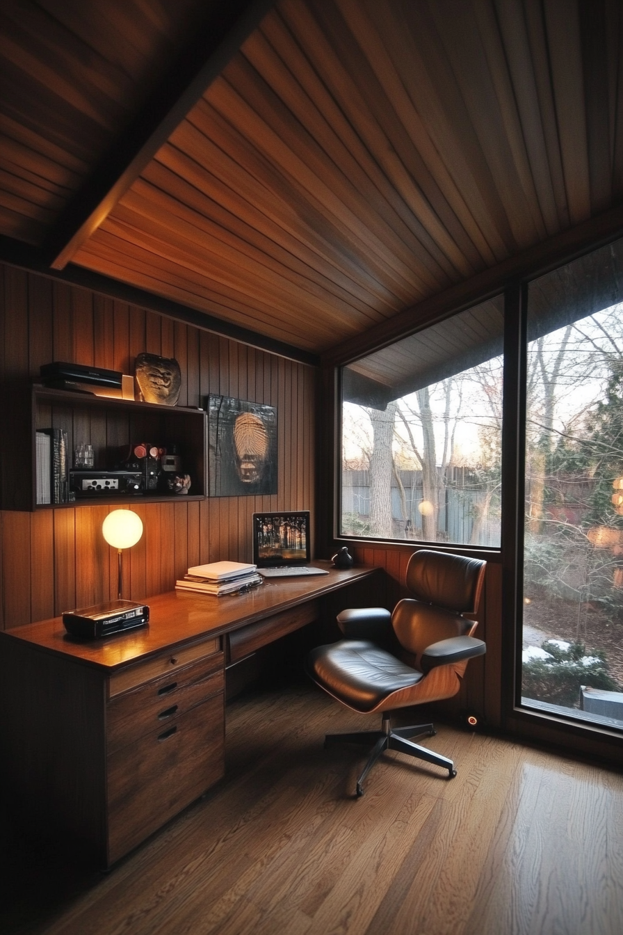
[[[309,511],[253,513],[253,564],[264,578],[328,575],[310,560]]]

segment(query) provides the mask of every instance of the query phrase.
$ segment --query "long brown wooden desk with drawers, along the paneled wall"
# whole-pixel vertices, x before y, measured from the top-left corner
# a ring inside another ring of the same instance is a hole
[[[374,574],[330,568],[229,597],[172,591],[149,598],[149,626],[103,640],[72,640],[60,617],[0,632],[11,795],[109,867],[223,775],[225,663],[318,620],[328,595]]]

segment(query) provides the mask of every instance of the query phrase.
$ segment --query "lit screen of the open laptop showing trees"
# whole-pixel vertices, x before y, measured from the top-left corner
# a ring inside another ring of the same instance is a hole
[[[253,562],[258,568],[310,560],[309,511],[253,513]]]

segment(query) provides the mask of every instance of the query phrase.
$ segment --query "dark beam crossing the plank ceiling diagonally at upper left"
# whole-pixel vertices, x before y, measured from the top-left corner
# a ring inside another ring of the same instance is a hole
[[[48,266],[63,269],[216,79],[275,0],[227,0],[167,70],[72,198],[43,244]]]

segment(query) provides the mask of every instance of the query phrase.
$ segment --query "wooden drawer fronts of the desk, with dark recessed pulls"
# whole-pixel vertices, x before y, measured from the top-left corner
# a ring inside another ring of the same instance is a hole
[[[219,640],[204,640],[108,680],[108,865],[223,775],[223,661]]]

